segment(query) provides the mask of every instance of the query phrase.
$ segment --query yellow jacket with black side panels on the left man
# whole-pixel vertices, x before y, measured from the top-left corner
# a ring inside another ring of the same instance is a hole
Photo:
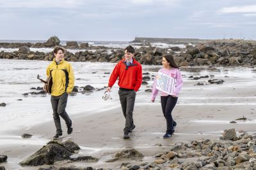
[[[70,63],[65,60],[57,65],[55,59],[46,69],[47,77],[52,76],[52,96],[60,96],[64,92],[71,94],[74,88],[74,72]]]

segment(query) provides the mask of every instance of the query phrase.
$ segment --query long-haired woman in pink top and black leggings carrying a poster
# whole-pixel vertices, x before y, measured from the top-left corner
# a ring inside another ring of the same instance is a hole
[[[172,78],[171,79],[173,80],[173,82],[175,82],[172,92],[166,93],[164,92],[164,90],[161,91],[161,106],[162,106],[162,110],[163,110],[164,117],[166,119],[166,125],[167,125],[166,134],[164,134],[163,138],[166,139],[166,138],[172,137],[172,134],[175,131],[175,127],[177,125],[177,123],[172,118],[172,110],[177,103],[179,92],[182,87],[183,81],[182,81],[181,73],[179,71],[179,67],[175,64],[172,55],[169,55],[169,54],[164,55],[162,64],[163,64],[163,68],[159,69],[158,74],[160,73],[166,77],[168,76],[172,77],[173,79]],[[161,83],[168,83],[168,82],[163,80]],[[151,95],[152,102],[154,102],[156,99],[157,93],[159,91],[158,89],[159,88],[157,88],[157,77],[156,77],[154,81],[154,85],[152,87],[152,95]]]

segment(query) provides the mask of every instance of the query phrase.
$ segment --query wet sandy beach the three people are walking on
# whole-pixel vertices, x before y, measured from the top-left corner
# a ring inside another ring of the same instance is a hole
[[[200,74],[205,75],[204,72]],[[221,75],[223,76],[223,74]],[[95,163],[64,161],[56,162],[54,166],[73,165],[118,169],[122,162],[136,162],[136,164],[152,162],[154,155],[168,150],[170,144],[180,141],[218,139],[225,129],[232,128],[235,128],[237,132],[253,133],[256,122],[256,87],[253,82],[255,82],[256,76],[253,71],[250,72],[250,76],[248,74],[247,76],[241,75],[243,74],[228,74],[228,76],[218,77],[218,74],[215,74],[214,78],[221,78],[225,81],[222,85],[206,83],[209,78],[185,81],[178,103],[172,113],[177,122],[177,128],[170,139],[163,139],[166,122],[161,111],[159,96],[155,103],[150,103],[150,93],[144,90],[137,93],[134,108],[136,128],[131,133],[131,139],[123,139],[125,120],[119,105],[112,110],[97,114],[74,115],[72,116],[74,132],[67,135],[67,129],[62,122],[64,138],[60,140],[74,141],[81,146],[78,155],[90,155],[97,157],[99,161]],[[182,76],[188,80],[188,75]],[[195,85],[198,81],[207,85]],[[117,89],[114,89],[112,94],[113,97],[117,97]],[[102,99],[99,100],[100,104]],[[51,113],[49,113],[49,117],[51,117]],[[246,117],[247,120],[236,120],[241,117]],[[236,120],[237,123],[230,124],[232,120]],[[24,133],[32,134],[33,137],[22,139],[20,135]],[[44,146],[52,139],[53,135],[52,120],[31,128],[24,127],[2,132],[1,155],[8,155],[8,161],[2,163],[1,166],[6,169],[38,169],[39,167],[21,167],[18,163]],[[135,148],[145,157],[138,160],[106,162],[113,153],[120,152],[125,148]]]

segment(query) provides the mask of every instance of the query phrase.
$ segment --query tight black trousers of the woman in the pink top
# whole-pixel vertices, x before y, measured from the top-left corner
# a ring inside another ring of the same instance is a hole
[[[161,96],[161,106],[166,119],[166,133],[173,133],[173,118],[172,110],[177,103],[178,97]]]

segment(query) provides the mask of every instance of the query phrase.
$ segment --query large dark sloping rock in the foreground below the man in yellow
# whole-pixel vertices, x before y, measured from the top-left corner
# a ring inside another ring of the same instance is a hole
[[[50,141],[33,155],[20,162],[21,166],[42,166],[44,164],[52,165],[56,161],[69,159],[72,153],[65,146]]]

